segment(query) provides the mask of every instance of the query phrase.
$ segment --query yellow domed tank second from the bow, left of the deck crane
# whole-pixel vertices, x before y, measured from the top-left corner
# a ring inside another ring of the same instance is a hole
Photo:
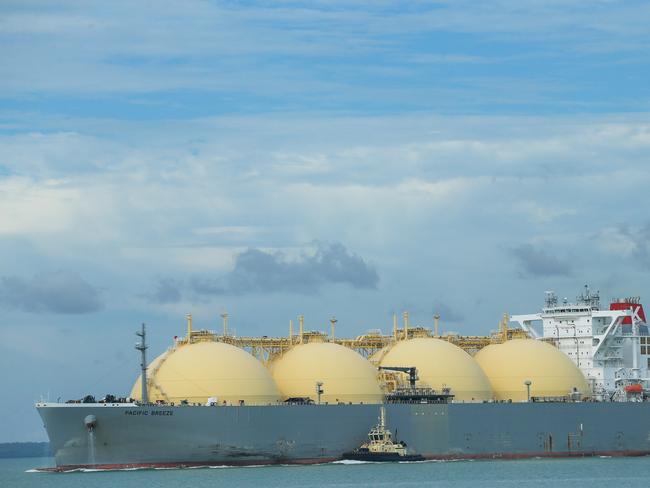
[[[383,393],[377,370],[359,353],[328,342],[293,347],[271,365],[282,397],[309,397],[317,401],[316,383],[321,382],[321,402],[380,403]]]

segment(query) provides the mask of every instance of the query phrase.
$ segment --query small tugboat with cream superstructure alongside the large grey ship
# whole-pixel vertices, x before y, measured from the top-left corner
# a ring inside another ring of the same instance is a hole
[[[379,424],[368,433],[368,442],[354,451],[343,453],[342,459],[372,462],[424,461],[424,457],[419,454],[409,454],[404,441],[393,440],[393,434],[386,428],[383,405],[379,413]]]

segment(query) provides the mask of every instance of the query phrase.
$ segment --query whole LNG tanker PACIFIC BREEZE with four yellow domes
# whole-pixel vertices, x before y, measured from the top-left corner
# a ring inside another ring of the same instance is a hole
[[[607,310],[589,290],[575,303],[547,295],[540,314],[512,321],[521,327],[463,338],[405,316],[391,336],[334,339],[335,319],[329,337],[301,319],[280,339],[230,336],[227,317],[223,335],[193,331],[188,318],[151,363],[143,326],[130,397],[36,408],[63,471],[335,461],[380,413],[424,459],[650,454],[638,299]]]

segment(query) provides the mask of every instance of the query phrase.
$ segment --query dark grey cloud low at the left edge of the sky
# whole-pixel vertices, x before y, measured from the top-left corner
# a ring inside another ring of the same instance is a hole
[[[84,314],[103,307],[100,291],[75,273],[0,278],[0,303],[29,313]]]

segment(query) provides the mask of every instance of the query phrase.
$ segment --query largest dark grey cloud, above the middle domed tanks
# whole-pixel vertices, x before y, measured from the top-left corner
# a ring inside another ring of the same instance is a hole
[[[374,266],[340,243],[316,243],[315,252],[290,259],[282,252],[247,249],[235,258],[233,270],[219,278],[193,278],[199,295],[247,293],[314,293],[327,283],[359,289],[376,289],[379,275]]]

